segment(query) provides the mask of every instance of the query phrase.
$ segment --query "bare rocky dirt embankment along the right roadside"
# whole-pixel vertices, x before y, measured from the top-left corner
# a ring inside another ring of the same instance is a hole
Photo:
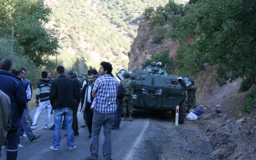
[[[216,76],[206,67],[197,78],[190,77],[198,88],[197,108],[203,113],[198,120],[185,120],[178,127],[170,124],[170,133],[175,132],[179,140],[170,136],[172,144],[177,141],[171,147],[176,154],[166,152],[168,159],[256,159],[256,109],[249,115],[242,113],[247,93],[238,93],[241,79],[219,87]],[[215,108],[217,104],[220,109]]]

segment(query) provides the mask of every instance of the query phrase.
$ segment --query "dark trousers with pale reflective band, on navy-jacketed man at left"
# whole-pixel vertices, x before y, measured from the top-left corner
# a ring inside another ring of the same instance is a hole
[[[6,159],[17,159],[18,154],[18,129],[9,130],[7,133],[7,152]]]

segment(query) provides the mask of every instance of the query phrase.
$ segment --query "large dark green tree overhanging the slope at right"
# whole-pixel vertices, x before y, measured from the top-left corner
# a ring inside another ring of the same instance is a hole
[[[181,40],[195,34],[188,46],[193,47],[194,63],[201,68],[205,63],[216,66],[220,86],[242,78],[239,92],[245,92],[256,84],[256,1],[202,0],[176,31]],[[256,98],[254,93],[249,93],[251,99]],[[247,105],[244,111],[250,109]]]

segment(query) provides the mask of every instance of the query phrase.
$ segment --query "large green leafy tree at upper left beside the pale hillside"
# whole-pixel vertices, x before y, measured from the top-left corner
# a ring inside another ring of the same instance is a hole
[[[53,29],[46,29],[51,9],[43,0],[7,0],[0,2],[0,35],[11,38],[11,28],[15,28],[15,42],[24,47],[36,66],[49,63],[49,56],[58,54],[58,36]]]

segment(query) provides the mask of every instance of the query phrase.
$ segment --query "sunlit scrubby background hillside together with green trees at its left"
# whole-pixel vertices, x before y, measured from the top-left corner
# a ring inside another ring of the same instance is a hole
[[[113,72],[128,68],[127,52],[137,34],[138,22],[148,6],[168,1],[1,1],[1,57],[12,58],[14,67],[29,68],[35,85],[39,71],[63,65],[85,73],[101,61],[113,64]],[[14,53],[10,40],[14,27]],[[40,72],[39,72],[40,73]]]

